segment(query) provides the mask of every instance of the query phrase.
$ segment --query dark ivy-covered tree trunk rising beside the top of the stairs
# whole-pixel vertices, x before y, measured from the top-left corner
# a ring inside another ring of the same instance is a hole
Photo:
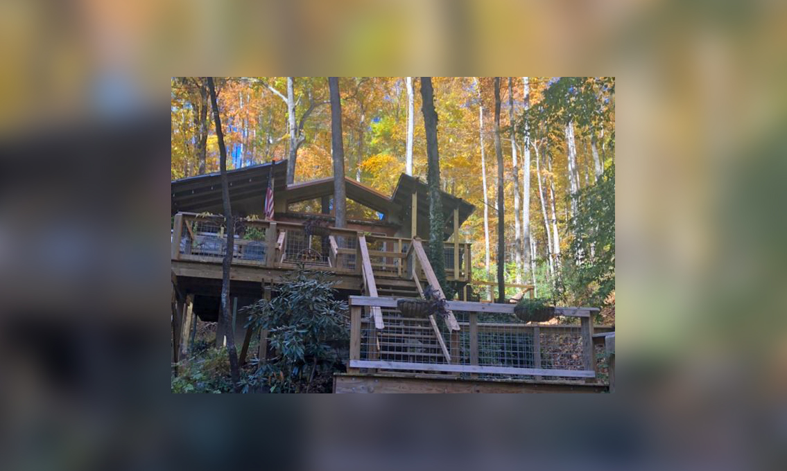
[[[429,186],[429,262],[449,299],[453,290],[445,283],[445,218],[440,196],[440,153],[438,152],[438,113],[434,111],[434,90],[431,77],[421,77],[421,112],[427,134],[427,185]]]

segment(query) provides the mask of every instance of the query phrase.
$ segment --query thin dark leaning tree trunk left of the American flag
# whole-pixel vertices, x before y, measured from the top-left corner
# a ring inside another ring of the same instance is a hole
[[[238,370],[238,352],[235,350],[235,331],[231,327],[230,314],[230,266],[235,245],[235,219],[232,219],[230,204],[230,186],[227,183],[227,149],[224,147],[224,133],[221,131],[219,106],[216,104],[216,87],[213,78],[208,77],[210,101],[213,108],[213,120],[216,123],[216,138],[219,141],[221,199],[224,202],[224,226],[227,227],[227,249],[224,251],[224,262],[221,265],[221,322],[227,332],[227,354],[230,357],[230,375],[235,392],[238,392],[240,370]]]

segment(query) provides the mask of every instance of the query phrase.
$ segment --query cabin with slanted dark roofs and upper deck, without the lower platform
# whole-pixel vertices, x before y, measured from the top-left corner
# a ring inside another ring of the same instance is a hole
[[[404,276],[410,241],[427,239],[427,185],[402,174],[393,194],[346,178],[347,224],[334,228],[332,178],[286,184],[286,160],[227,171],[232,212],[245,218],[236,227],[231,269],[231,297],[244,306],[262,296],[262,282],[276,281],[297,263],[334,272],[342,296],[381,294],[417,296]],[[270,178],[274,217],[264,220],[264,196]],[[471,245],[458,237],[459,229],[475,210],[472,204],[441,192],[445,212],[445,267],[447,278],[461,289],[471,280]],[[172,182],[172,276],[180,293],[193,296],[193,311],[215,321],[219,311],[221,262],[226,237],[219,173]],[[309,235],[304,223],[329,226],[327,235]],[[368,286],[358,245],[364,236],[371,265]],[[268,248],[272,248],[268,250]],[[371,288],[371,289],[370,289]]]

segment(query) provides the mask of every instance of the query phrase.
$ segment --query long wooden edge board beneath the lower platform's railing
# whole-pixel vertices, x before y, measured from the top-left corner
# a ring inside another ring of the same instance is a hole
[[[608,392],[607,385],[577,381],[464,380],[431,375],[335,373],[335,393]]]

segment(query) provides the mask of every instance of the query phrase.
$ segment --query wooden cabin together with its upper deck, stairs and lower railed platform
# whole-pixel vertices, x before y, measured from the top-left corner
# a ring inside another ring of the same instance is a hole
[[[232,212],[239,218],[230,297],[241,357],[250,335],[237,308],[275,296],[281,277],[304,264],[334,273],[339,296],[349,300],[347,373],[334,377],[335,392],[606,389],[590,379],[596,377],[590,318],[597,310],[560,308],[560,315],[580,322],[546,326],[519,321],[512,304],[464,299],[462,288],[471,282],[471,245],[461,239],[460,227],[475,209],[467,201],[440,193],[446,278],[462,293],[460,300],[449,301],[445,318],[412,318],[397,310],[396,298],[423,298],[427,285],[439,290],[421,242],[429,231],[424,182],[402,174],[388,196],[347,178],[347,227],[338,229],[331,178],[287,185],[286,160],[280,160],[227,171],[227,179]],[[272,220],[263,217],[269,181]],[[222,208],[218,173],[172,182],[174,361],[187,350],[194,315],[215,321],[220,310],[226,247]],[[217,333],[217,341],[223,338]],[[260,337],[260,358],[266,341]]]

